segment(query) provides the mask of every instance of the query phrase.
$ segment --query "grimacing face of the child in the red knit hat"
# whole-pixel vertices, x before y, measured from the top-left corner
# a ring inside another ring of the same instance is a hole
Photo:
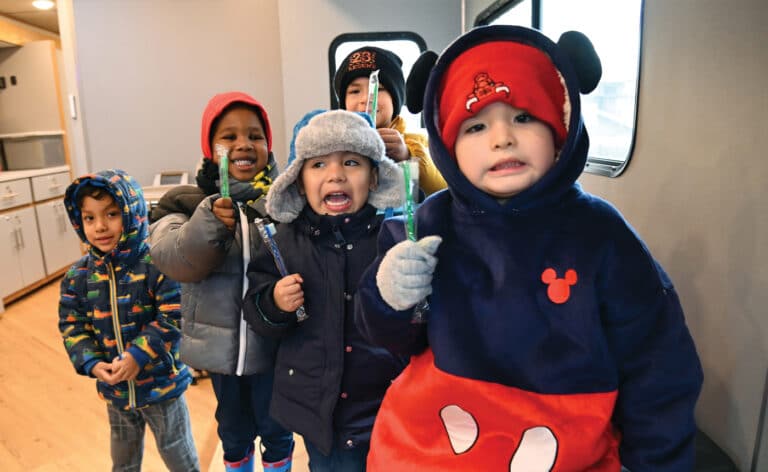
[[[472,185],[497,198],[532,186],[555,163],[549,127],[504,102],[488,105],[461,123],[455,152]]]

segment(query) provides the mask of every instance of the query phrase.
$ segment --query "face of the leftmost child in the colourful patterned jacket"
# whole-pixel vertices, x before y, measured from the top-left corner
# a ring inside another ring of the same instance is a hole
[[[112,251],[123,235],[123,213],[115,200],[108,196],[98,200],[86,196],[80,214],[88,242],[105,254]]]

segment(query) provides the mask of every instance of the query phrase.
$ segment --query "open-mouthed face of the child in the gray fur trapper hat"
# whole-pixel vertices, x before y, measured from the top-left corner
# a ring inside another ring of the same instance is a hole
[[[355,213],[376,189],[378,174],[370,159],[339,151],[307,159],[297,181],[299,192],[319,215]]]

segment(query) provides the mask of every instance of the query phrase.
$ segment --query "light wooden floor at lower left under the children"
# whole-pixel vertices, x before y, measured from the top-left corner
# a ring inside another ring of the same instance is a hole
[[[109,421],[95,380],[77,375],[58,332],[59,279],[0,314],[0,471],[106,471]],[[186,393],[203,471],[223,471],[209,380]],[[147,430],[145,472],[167,470]],[[256,470],[262,470],[257,461]],[[294,472],[307,456],[297,436]]]

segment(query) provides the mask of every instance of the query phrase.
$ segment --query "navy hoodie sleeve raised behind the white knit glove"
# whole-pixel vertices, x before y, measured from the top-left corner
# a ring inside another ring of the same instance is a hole
[[[413,309],[397,311],[381,297],[376,272],[389,248],[404,239],[403,224],[387,220],[378,238],[378,255],[360,279],[355,294],[355,322],[371,343],[397,355],[412,355],[427,347],[426,325],[411,323]],[[429,316],[429,314],[427,314]]]

